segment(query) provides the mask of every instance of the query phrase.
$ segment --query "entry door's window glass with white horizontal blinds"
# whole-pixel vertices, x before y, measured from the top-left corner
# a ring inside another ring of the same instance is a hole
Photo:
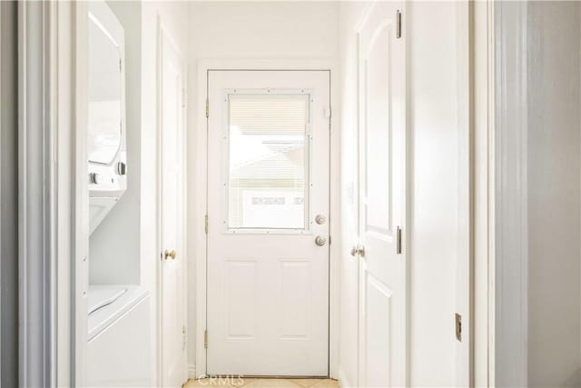
[[[310,95],[231,94],[228,226],[305,229]]]

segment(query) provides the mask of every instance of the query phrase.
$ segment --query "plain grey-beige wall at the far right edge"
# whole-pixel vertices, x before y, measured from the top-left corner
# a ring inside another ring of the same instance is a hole
[[[528,386],[580,386],[580,7],[527,15]]]

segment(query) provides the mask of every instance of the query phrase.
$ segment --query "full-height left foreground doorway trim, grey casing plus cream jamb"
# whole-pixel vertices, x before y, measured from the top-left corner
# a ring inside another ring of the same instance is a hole
[[[78,3],[18,3],[19,385],[82,383],[84,297],[76,298],[75,218],[85,176],[75,161],[75,12]],[[83,132],[83,131],[80,131]],[[86,147],[85,147],[86,148]],[[80,160],[80,159],[79,159]],[[84,159],[86,160],[86,158]],[[86,217],[84,217],[86,218]],[[80,265],[86,269],[86,263]],[[76,330],[75,330],[76,329]]]

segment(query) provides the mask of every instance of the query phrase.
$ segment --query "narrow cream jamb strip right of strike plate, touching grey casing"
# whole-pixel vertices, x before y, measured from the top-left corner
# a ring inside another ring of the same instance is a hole
[[[472,167],[473,270],[470,385],[495,386],[495,2],[473,5]]]

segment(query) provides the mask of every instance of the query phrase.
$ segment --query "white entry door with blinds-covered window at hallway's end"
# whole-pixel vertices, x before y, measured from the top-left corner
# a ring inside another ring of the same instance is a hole
[[[330,72],[208,72],[207,373],[329,374]]]

